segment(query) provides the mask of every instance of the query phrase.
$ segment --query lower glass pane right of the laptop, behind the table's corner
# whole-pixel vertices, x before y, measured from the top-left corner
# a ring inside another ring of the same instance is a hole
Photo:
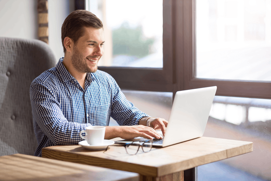
[[[253,152],[198,167],[201,180],[271,180],[271,100],[215,96],[206,137],[253,142]]]

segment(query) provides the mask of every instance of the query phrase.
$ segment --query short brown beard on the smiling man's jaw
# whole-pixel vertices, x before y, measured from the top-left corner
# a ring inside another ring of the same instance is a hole
[[[86,60],[84,61],[83,55],[80,54],[76,46],[73,47],[73,55],[71,56],[71,62],[73,67],[80,73],[94,73],[97,71],[98,67],[95,65],[94,70],[90,69],[89,66],[86,63]]]

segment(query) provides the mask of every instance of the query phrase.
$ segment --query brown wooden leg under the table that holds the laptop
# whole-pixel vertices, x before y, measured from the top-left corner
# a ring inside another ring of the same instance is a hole
[[[171,174],[163,175],[163,176],[159,176],[159,177],[140,175],[140,181],[168,181],[168,180],[184,181],[183,178],[184,178],[183,171],[171,173]]]

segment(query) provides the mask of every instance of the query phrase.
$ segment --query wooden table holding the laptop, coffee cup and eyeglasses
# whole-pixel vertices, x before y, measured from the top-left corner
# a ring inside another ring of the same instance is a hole
[[[123,146],[110,146],[107,151],[79,145],[51,146],[42,148],[42,157],[135,172],[140,180],[183,180],[183,170],[251,151],[252,142],[201,137],[136,155],[128,155]]]

